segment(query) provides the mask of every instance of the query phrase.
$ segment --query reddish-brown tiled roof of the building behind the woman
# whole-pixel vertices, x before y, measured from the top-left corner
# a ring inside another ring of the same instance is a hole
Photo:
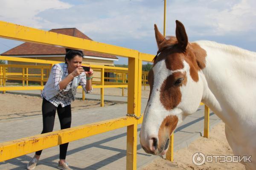
[[[73,37],[92,40],[76,28],[51,29],[50,31],[59,33],[59,34],[65,34]],[[86,51],[86,50],[83,50],[83,52],[84,52],[84,55],[86,56],[118,59],[116,56],[110,55],[110,54],[102,54],[102,53]],[[42,44],[36,44],[31,42],[24,42],[23,44],[18,45],[17,47],[12,48],[2,53],[1,55],[14,56],[14,55],[54,55],[54,54],[66,54],[65,48],[55,47],[52,45],[42,45]]]

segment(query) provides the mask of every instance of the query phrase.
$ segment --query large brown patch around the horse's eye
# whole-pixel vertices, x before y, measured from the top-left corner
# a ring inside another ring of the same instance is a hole
[[[168,111],[175,108],[181,101],[180,86],[182,84],[175,85],[178,78],[184,78],[185,82],[183,81],[183,83],[186,85],[186,74],[184,75],[181,72],[175,72],[164,80],[160,89],[160,102]]]

